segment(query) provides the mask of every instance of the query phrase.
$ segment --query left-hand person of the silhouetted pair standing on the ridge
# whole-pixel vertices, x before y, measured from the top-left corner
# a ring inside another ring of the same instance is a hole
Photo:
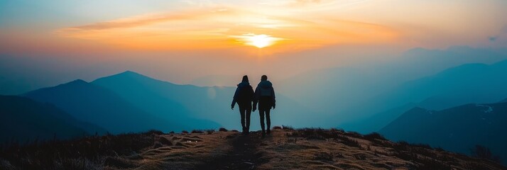
[[[234,110],[236,102],[239,106],[239,114],[241,115],[241,126],[243,126],[243,134],[247,135],[250,131],[250,113],[252,110],[252,101],[254,101],[254,89],[250,86],[249,77],[244,76],[241,83],[238,84],[234,97],[232,98],[231,109]]]

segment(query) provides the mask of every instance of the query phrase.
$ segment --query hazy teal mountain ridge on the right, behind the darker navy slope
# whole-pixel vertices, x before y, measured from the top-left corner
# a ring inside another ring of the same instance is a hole
[[[507,60],[491,65],[463,64],[405,82],[364,103],[376,108],[377,113],[353,121],[345,128],[359,132],[380,130],[413,107],[441,110],[466,103],[501,101],[507,96],[507,77],[503,74],[507,74]]]

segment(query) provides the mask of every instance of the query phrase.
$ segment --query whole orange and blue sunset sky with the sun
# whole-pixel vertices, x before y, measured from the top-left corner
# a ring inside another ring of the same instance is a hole
[[[1,1],[0,83],[285,79],[414,47],[507,47],[506,16],[505,0]]]

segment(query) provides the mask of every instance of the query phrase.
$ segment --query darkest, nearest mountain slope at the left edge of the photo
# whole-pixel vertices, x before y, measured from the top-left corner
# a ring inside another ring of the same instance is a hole
[[[106,130],[76,120],[56,106],[21,96],[0,96],[0,143],[53,140],[102,134]]]

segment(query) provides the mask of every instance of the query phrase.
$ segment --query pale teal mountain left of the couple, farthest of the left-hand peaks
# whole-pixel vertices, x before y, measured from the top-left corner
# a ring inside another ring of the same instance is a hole
[[[210,120],[230,111],[226,101],[231,101],[235,90],[231,87],[172,84],[131,71],[103,77],[91,84],[110,89],[133,106],[159,118],[195,129],[219,128],[219,124]]]

